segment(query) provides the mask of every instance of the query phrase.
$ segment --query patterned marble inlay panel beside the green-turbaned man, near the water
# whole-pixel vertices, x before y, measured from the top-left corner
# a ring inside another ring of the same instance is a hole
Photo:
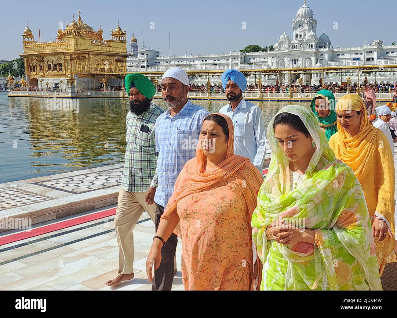
[[[69,193],[85,193],[121,184],[123,168],[89,172],[65,178],[35,182],[35,184]]]

